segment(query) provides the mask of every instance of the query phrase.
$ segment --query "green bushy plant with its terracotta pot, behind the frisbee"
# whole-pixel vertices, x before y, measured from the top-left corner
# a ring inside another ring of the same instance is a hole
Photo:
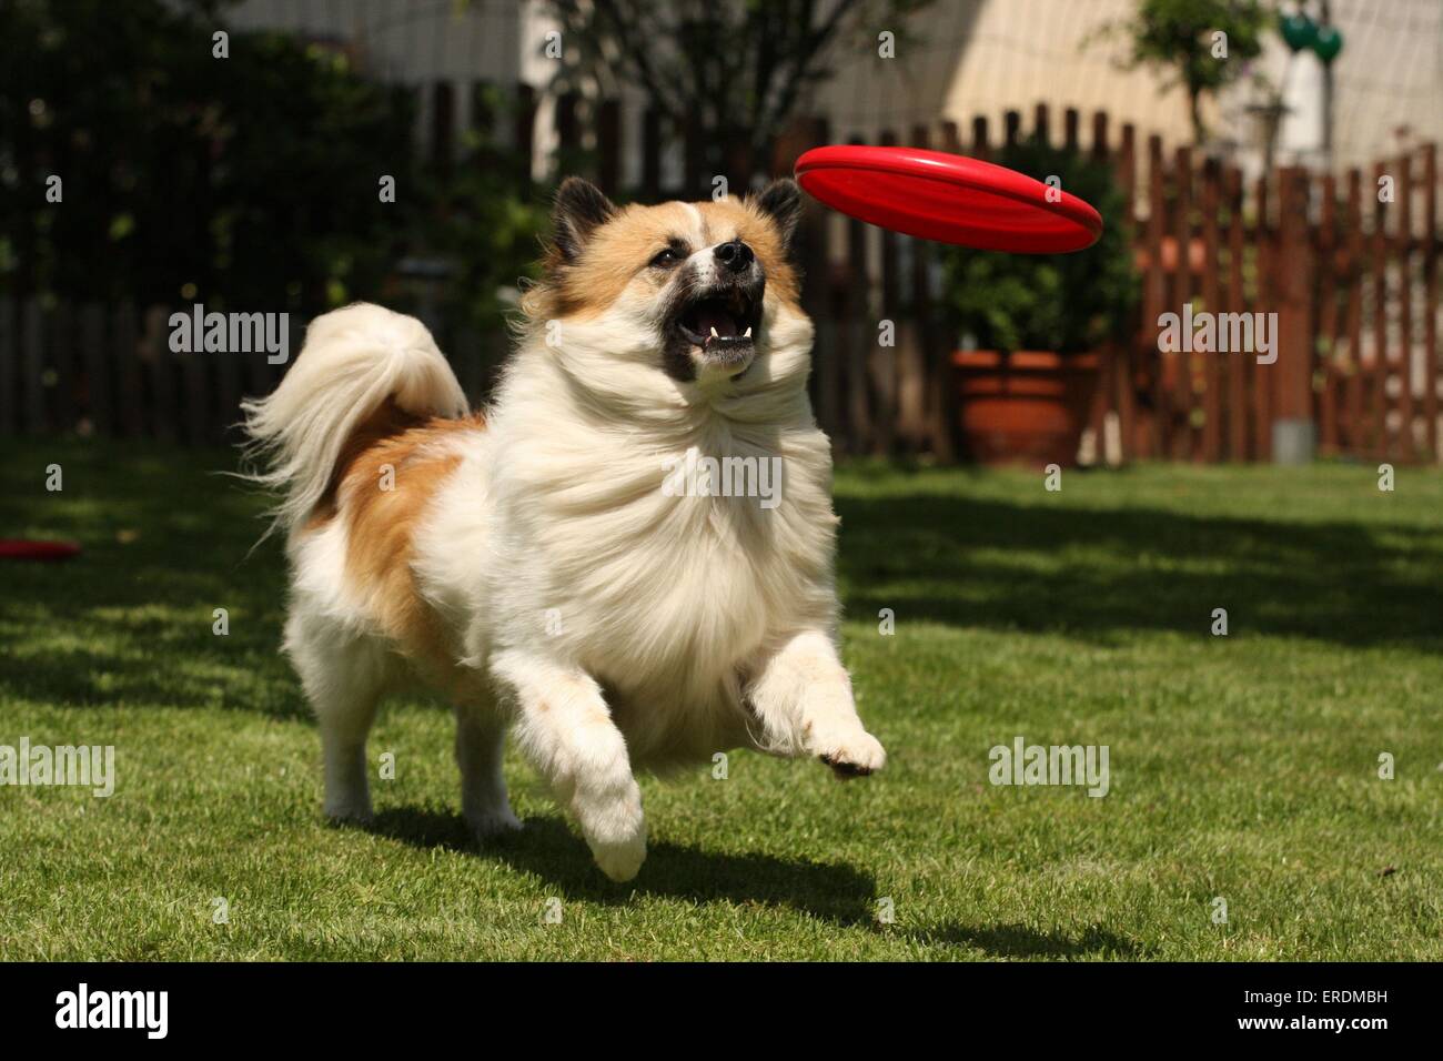
[[[961,338],[958,427],[974,460],[1071,465],[1097,393],[1098,351],[1133,323],[1130,204],[1111,167],[1078,152],[1033,139],[996,162],[1058,178],[1098,209],[1102,237],[1072,254],[945,250],[945,305]]]

